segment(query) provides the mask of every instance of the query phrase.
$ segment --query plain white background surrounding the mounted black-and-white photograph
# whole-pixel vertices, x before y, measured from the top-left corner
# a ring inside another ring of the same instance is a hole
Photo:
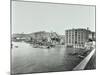
[[[71,3],[71,4],[87,4],[96,5],[96,53],[97,53],[97,69],[88,71],[67,71],[39,73],[41,75],[99,75],[100,66],[100,0],[28,0],[28,1],[44,1],[55,3]],[[10,73],[10,0],[0,0],[0,75],[9,75]],[[36,75],[39,75],[38,73]],[[35,75],[35,74],[34,74]]]

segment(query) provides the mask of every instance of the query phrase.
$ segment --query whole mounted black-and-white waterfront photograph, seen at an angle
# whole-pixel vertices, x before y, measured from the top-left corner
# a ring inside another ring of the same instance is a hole
[[[95,69],[95,5],[11,1],[11,75]]]

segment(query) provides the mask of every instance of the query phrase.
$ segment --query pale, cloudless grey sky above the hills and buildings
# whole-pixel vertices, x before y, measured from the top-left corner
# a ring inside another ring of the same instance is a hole
[[[12,33],[64,34],[66,29],[87,27],[95,31],[94,6],[12,2]]]

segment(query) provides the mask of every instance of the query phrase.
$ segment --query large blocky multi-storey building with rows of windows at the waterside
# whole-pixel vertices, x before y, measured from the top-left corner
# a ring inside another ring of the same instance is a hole
[[[69,29],[65,31],[65,45],[67,47],[84,48],[92,32],[87,29]]]

